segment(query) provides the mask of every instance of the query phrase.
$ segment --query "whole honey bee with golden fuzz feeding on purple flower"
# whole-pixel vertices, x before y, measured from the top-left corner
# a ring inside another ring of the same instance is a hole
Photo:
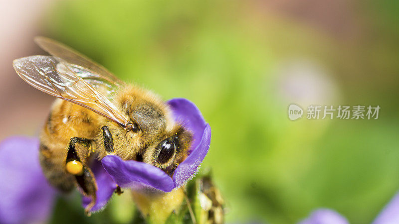
[[[159,96],[126,84],[64,44],[34,40],[52,56],[19,58],[13,67],[25,82],[59,98],[40,134],[40,164],[52,186],[62,192],[76,186],[91,197],[89,213],[97,192],[90,169],[94,159],[118,155],[173,175],[187,157],[192,133],[173,119]]]

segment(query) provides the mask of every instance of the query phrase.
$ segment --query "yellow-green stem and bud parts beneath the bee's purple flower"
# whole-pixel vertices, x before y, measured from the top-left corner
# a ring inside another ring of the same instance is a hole
[[[211,175],[197,175],[172,192],[133,191],[142,221],[149,224],[223,223],[223,199]]]

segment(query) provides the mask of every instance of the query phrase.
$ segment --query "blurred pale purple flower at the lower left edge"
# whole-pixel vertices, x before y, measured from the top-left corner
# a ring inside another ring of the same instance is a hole
[[[36,138],[9,137],[0,143],[0,223],[43,223],[55,199],[39,164]]]

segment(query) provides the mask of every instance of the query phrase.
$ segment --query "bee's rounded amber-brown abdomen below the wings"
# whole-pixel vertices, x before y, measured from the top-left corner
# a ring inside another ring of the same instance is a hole
[[[40,134],[40,165],[48,182],[60,191],[68,192],[74,188],[74,177],[65,168],[67,146],[72,137],[94,138],[98,119],[93,113],[57,100],[44,124]]]

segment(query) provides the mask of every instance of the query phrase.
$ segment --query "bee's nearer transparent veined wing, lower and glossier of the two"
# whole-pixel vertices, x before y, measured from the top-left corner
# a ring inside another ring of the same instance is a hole
[[[39,55],[16,59],[13,66],[25,82],[38,90],[97,112],[123,126],[131,122],[100,90],[80,77],[82,74],[91,76],[83,68]]]

